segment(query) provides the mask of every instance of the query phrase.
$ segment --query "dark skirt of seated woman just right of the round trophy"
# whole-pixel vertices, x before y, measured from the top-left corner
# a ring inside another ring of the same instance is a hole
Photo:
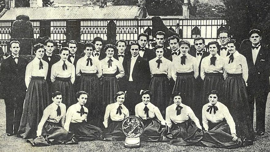
[[[160,142],[161,133],[163,131],[160,121],[156,117],[154,117],[143,120],[143,123],[145,130],[140,136],[141,141]]]

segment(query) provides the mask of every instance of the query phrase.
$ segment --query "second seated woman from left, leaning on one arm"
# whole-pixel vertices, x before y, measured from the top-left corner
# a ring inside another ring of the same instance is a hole
[[[84,91],[76,93],[78,103],[67,109],[64,128],[75,134],[79,141],[93,141],[102,139],[102,130],[87,122],[88,109],[84,107],[89,94]]]

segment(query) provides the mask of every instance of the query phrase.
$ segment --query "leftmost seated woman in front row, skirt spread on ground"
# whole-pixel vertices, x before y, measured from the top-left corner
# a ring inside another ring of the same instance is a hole
[[[62,103],[59,91],[52,93],[52,101],[44,109],[43,116],[37,126],[37,138],[29,139],[32,146],[49,146],[56,144],[78,144],[72,132],[63,128],[66,116],[66,105]]]

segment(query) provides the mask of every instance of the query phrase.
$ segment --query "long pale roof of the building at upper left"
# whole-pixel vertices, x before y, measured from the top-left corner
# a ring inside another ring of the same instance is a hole
[[[138,6],[20,7],[6,11],[0,20],[15,20],[18,15],[27,15],[30,20],[142,18],[143,11],[146,9]]]

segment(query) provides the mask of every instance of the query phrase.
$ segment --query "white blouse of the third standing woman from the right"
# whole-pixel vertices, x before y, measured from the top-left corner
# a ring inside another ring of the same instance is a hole
[[[176,73],[187,73],[194,71],[195,79],[199,76],[199,66],[196,63],[195,57],[190,54],[186,54],[186,64],[181,64],[181,57],[183,54],[180,54],[172,61],[172,78],[176,81]]]

